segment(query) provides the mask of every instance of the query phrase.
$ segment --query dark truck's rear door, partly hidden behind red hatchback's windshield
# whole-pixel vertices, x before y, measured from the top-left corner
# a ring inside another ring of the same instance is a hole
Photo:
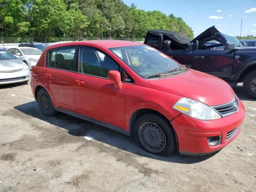
[[[160,50],[178,61],[180,64],[191,68],[191,51],[189,50]]]

